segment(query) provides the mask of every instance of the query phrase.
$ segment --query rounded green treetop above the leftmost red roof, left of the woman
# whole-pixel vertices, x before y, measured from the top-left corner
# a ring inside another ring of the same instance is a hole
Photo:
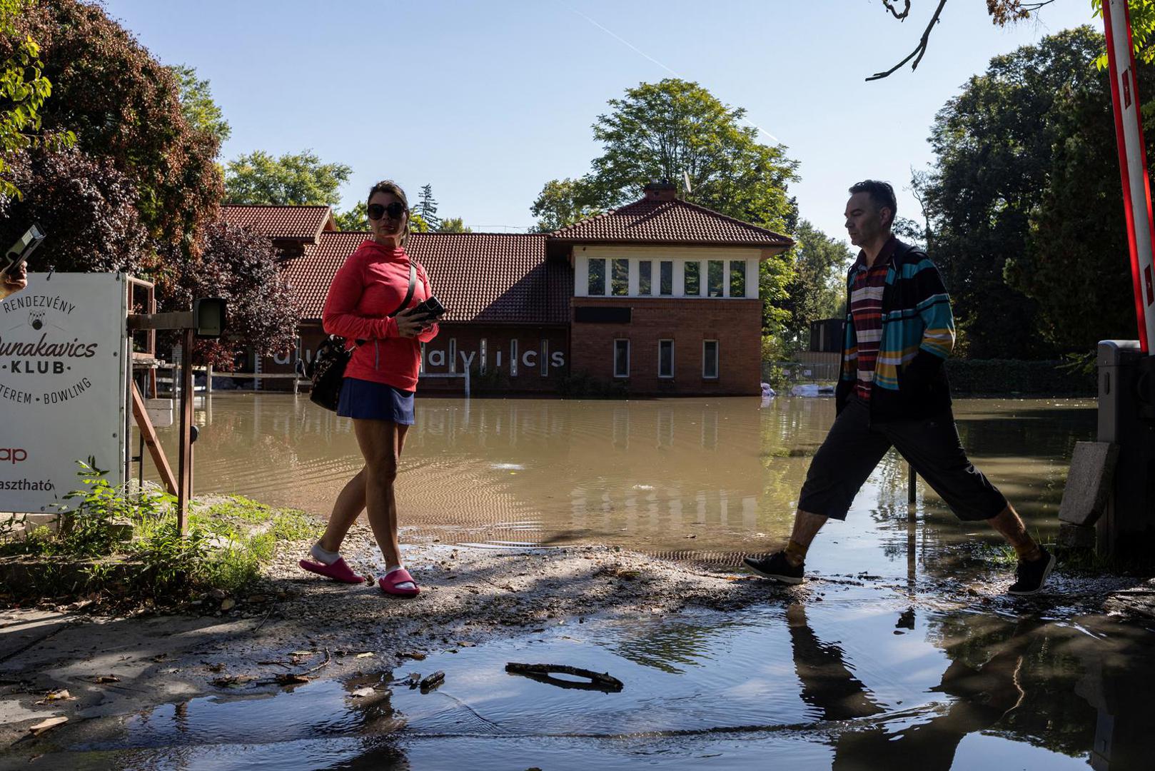
[[[225,166],[225,203],[280,206],[337,206],[337,192],[352,169],[343,163],[321,163],[312,150],[273,157],[254,150]]]

